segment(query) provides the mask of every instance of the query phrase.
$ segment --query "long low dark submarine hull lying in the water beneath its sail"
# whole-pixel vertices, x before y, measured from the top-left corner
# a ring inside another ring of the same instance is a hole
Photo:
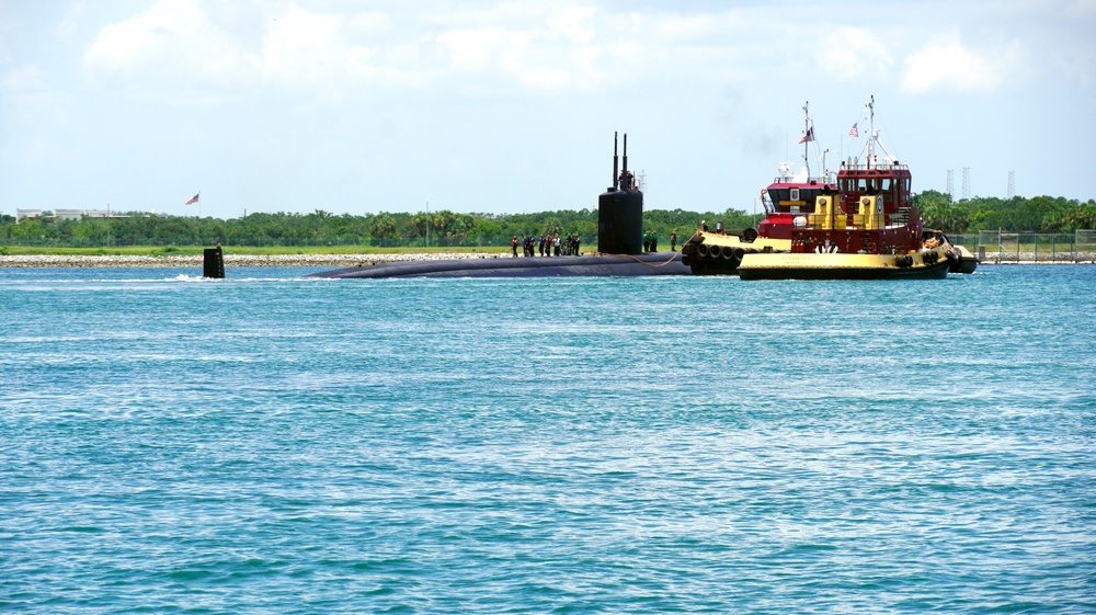
[[[449,259],[380,263],[309,274],[307,277],[635,277],[689,275],[677,252],[629,255]]]

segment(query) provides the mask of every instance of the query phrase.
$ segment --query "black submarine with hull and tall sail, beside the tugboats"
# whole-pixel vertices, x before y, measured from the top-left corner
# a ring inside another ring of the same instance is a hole
[[[628,135],[624,166],[618,169],[617,133],[613,134],[613,185],[597,197],[597,252],[572,257],[447,259],[363,264],[312,273],[306,277],[609,277],[692,275],[681,252],[643,252],[643,192],[628,170]]]

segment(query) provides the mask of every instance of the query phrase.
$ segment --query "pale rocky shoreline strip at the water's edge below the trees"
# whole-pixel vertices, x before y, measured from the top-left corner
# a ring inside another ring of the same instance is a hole
[[[1078,260],[1035,260],[1035,254],[1020,254],[1020,259],[998,260],[995,253],[986,253],[980,265],[1072,265],[1096,264],[1096,254],[1083,252]],[[454,259],[511,259],[505,253],[484,254],[469,252],[439,252],[434,254],[225,254],[225,267],[238,266],[330,266],[353,267],[390,262],[445,261]],[[540,257],[534,257],[540,258]],[[556,258],[556,257],[551,257]],[[0,255],[0,267],[197,267],[202,269],[203,257],[195,255],[54,255],[21,254]]]

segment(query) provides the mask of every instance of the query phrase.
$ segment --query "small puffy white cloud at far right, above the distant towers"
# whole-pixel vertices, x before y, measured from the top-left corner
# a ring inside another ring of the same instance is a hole
[[[934,38],[905,59],[902,91],[923,94],[934,90],[984,92],[1005,77],[1011,54],[991,57],[962,45],[956,32]]]

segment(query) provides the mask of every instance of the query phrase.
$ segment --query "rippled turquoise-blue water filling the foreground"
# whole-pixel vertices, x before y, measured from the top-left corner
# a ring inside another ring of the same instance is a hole
[[[1096,612],[1096,267],[310,271],[0,270],[0,611]]]

